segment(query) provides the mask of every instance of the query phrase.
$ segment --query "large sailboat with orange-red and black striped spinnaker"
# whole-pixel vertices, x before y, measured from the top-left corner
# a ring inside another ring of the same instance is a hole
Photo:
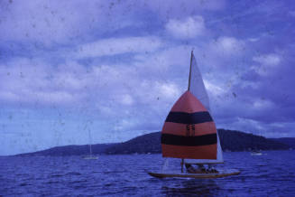
[[[181,171],[148,173],[157,178],[218,178],[240,174],[235,169],[214,173],[184,172],[184,164],[223,164],[217,127],[210,115],[207,90],[193,51],[190,56],[189,86],[171,108],[161,130],[162,156],[180,158]]]

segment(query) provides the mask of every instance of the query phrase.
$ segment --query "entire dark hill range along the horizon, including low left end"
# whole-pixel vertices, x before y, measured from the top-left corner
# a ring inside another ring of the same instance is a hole
[[[224,151],[285,150],[295,147],[295,137],[265,138],[241,131],[218,129]],[[137,136],[124,143],[92,145],[94,155],[161,153],[161,132]],[[22,155],[88,155],[88,145],[65,145]]]

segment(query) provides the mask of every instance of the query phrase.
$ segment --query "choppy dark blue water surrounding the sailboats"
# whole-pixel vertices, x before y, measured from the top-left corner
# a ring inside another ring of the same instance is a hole
[[[295,151],[225,153],[225,168],[240,175],[219,179],[157,179],[161,155],[101,155],[97,160],[69,157],[0,157],[0,195],[4,196],[294,196]],[[179,168],[180,164],[170,164]]]

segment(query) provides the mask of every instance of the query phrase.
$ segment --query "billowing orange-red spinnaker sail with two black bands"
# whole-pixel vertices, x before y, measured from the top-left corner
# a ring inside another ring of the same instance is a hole
[[[217,159],[217,128],[207,109],[187,90],[171,108],[161,131],[164,157]]]

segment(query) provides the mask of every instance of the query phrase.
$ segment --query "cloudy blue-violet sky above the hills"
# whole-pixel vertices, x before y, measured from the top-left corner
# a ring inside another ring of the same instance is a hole
[[[291,0],[0,0],[0,155],[160,131],[191,50],[218,128],[295,136]]]

